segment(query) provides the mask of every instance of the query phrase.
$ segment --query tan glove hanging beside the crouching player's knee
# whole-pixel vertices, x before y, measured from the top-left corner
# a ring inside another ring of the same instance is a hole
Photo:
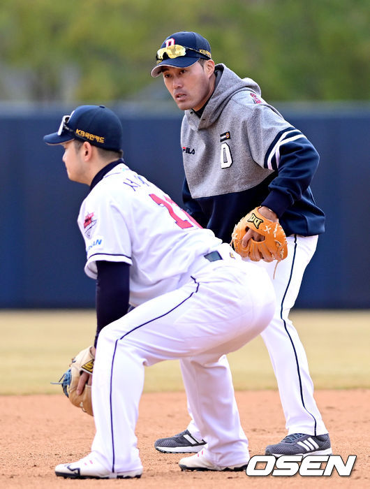
[[[94,416],[91,402],[91,386],[86,384],[80,395],[77,395],[76,388],[82,372],[92,374],[94,360],[94,355],[91,353],[91,346],[88,346],[88,348],[80,351],[80,353],[77,353],[72,358],[72,362],[69,365],[70,368],[62,375],[59,382],[55,383],[61,384],[64,394],[66,394],[73,405],[80,407],[82,411],[91,416]]]

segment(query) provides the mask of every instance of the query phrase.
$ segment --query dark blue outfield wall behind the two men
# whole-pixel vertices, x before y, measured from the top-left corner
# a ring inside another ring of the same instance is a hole
[[[296,306],[369,308],[370,109],[280,110],[320,153],[311,187],[327,215]],[[116,111],[126,163],[181,205],[182,113]],[[1,308],[94,307],[95,284],[83,272],[76,223],[89,189],[68,180],[63,149],[43,143],[64,113],[0,110]]]

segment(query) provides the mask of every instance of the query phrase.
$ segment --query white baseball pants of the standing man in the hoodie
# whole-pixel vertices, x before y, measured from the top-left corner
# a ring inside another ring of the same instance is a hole
[[[272,361],[288,435],[292,433],[324,435],[327,433],[327,428],[313,398],[313,382],[309,374],[306,352],[297,330],[288,319],[290,309],[299,293],[304,270],[316,251],[318,236],[292,235],[287,240],[288,256],[277,265],[275,277],[276,261],[255,262],[260,269],[267,270],[276,295],[274,317],[269,326],[262,331],[261,336]],[[185,384],[188,382],[186,362],[186,359],[181,361]],[[216,367],[223,367],[225,370],[230,368],[226,358],[221,358]],[[247,369],[246,365],[246,371]],[[188,408],[191,414],[191,409]],[[195,438],[205,438],[193,419],[188,425],[188,430]]]

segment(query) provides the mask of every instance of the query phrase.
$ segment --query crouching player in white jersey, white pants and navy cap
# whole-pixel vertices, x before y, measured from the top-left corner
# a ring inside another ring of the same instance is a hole
[[[87,250],[84,270],[96,279],[98,319],[91,388],[96,435],[91,453],[57,465],[57,476],[140,477],[135,425],[145,366],[183,357],[191,358],[188,402],[208,443],[180,467],[244,469],[248,440],[230,370],[214,365],[271,320],[267,273],[243,262],[126,166],[121,123],[108,108],[80,106],[44,140],[64,146],[68,177],[91,189],[78,224]]]

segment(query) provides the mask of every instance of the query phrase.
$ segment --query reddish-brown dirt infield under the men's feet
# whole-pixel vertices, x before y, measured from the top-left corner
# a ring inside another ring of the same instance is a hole
[[[251,455],[261,455],[267,444],[285,435],[276,391],[236,393]],[[144,465],[141,479],[72,481],[57,478],[54,466],[89,453],[94,420],[68,402],[64,395],[1,396],[1,488],[311,488],[313,486],[370,487],[369,390],[317,391],[316,400],[330,430],[334,453],[346,461],[357,455],[350,477],[247,477],[244,472],[181,472],[184,455],[154,450],[156,438],[172,435],[188,421],[184,393],[144,393],[137,428]],[[335,469],[334,469],[335,472]]]

